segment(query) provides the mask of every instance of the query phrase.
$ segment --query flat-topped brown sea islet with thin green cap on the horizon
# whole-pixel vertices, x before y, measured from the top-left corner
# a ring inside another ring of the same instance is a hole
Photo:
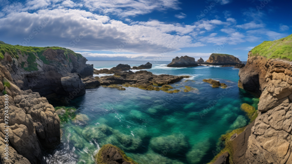
[[[241,61],[229,54],[211,54],[206,64],[224,65],[224,64],[239,64]]]

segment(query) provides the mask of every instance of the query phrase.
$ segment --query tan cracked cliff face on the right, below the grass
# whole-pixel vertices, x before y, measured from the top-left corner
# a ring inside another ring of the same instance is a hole
[[[260,112],[251,128],[246,163],[292,163],[291,62],[248,53],[239,71],[239,87],[260,96]]]

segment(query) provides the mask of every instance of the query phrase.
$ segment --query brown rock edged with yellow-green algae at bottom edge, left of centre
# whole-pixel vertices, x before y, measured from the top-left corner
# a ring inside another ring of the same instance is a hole
[[[120,148],[112,144],[103,145],[95,155],[95,161],[98,164],[138,164],[127,157]]]

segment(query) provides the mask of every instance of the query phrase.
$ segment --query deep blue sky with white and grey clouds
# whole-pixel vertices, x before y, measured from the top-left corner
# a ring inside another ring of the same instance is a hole
[[[247,60],[266,40],[292,33],[292,1],[0,0],[0,40],[58,46],[88,60]]]

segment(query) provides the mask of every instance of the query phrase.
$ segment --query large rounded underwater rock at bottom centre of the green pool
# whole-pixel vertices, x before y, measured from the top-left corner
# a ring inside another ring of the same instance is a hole
[[[165,156],[176,155],[187,148],[183,134],[155,137],[150,140],[149,148],[156,153],[164,152]]]

